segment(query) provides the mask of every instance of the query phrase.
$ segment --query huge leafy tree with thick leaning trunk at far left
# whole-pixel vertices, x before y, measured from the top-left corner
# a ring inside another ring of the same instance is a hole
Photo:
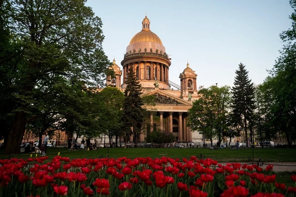
[[[60,78],[72,86],[82,81],[96,86],[104,81],[111,63],[102,50],[101,19],[84,6],[84,0],[5,2],[12,5],[3,10],[9,20],[7,29],[20,46],[16,55],[7,50],[1,60],[4,75],[9,76],[6,94],[12,95],[14,103],[6,147],[9,154],[19,152],[26,124],[42,116],[42,110],[34,115],[32,108],[43,109],[39,97],[51,94],[49,87],[59,84]]]

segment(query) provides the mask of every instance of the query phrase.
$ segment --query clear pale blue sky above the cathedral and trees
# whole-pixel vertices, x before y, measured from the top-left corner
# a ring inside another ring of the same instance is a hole
[[[121,66],[147,13],[150,29],[171,55],[169,79],[180,84],[188,60],[197,86],[204,87],[232,86],[240,62],[255,84],[262,83],[279,56],[279,34],[290,28],[293,12],[288,0],[89,0],[86,5],[102,19],[110,61],[115,56]]]

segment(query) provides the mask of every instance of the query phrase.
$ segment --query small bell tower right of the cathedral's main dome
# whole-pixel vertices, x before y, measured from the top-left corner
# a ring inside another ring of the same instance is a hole
[[[197,74],[189,67],[189,63],[187,62],[187,67],[179,76],[183,99],[188,98],[190,100],[191,96],[197,95],[196,77]]]

